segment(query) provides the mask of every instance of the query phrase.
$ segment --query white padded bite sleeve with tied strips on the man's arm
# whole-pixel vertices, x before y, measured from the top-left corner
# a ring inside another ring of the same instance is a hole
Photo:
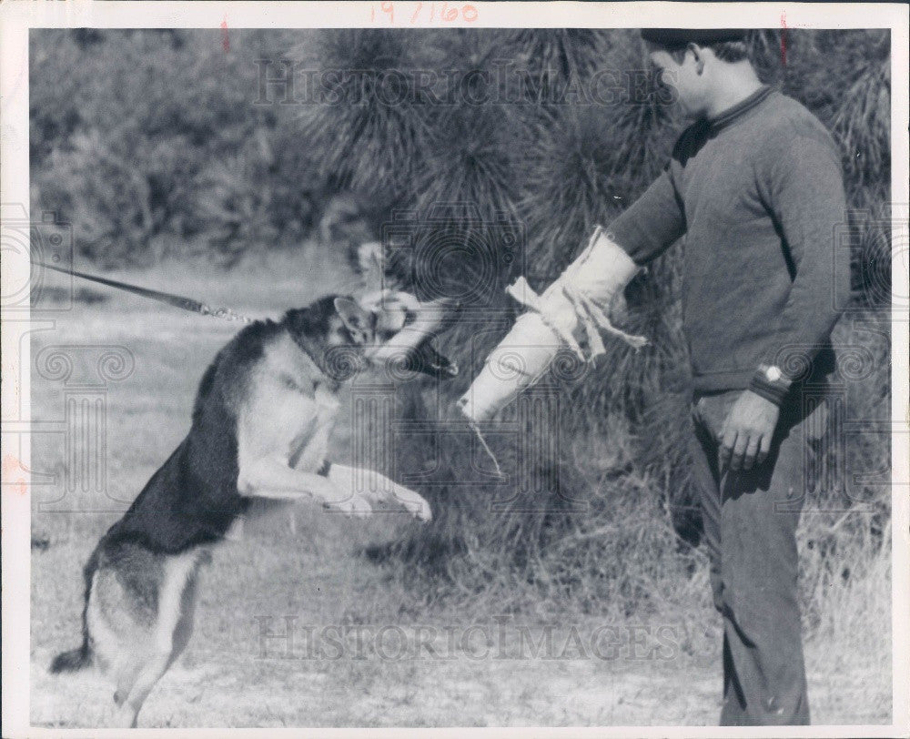
[[[540,296],[518,278],[507,291],[530,310],[515,321],[458,400],[461,412],[474,422],[490,419],[540,380],[563,347],[592,361],[605,351],[599,330],[634,347],[643,346],[646,339],[616,329],[609,319],[613,298],[638,270],[625,250],[598,227],[578,258]],[[586,335],[587,352],[575,339],[579,329]]]

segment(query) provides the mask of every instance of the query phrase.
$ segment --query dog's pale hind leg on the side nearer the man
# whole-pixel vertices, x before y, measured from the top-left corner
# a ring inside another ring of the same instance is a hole
[[[116,722],[124,728],[135,728],[139,711],[167,668],[177,659],[189,641],[192,631],[192,609],[195,605],[197,552],[167,558],[165,577],[157,603],[157,622],[151,634],[147,655],[136,673],[126,696],[120,696]],[[120,693],[118,686],[117,693]]]

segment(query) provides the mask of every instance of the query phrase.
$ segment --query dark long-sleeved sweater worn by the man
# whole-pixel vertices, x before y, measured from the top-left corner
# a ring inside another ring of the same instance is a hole
[[[687,128],[672,160],[608,229],[637,264],[685,235],[682,321],[694,389],[749,387],[759,365],[790,379],[834,369],[849,296],[837,147],[790,97],[762,87]]]

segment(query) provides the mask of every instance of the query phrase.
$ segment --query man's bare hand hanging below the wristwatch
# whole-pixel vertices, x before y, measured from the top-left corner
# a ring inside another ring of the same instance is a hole
[[[745,390],[733,403],[721,429],[721,471],[751,470],[771,450],[771,440],[781,410],[752,390]]]

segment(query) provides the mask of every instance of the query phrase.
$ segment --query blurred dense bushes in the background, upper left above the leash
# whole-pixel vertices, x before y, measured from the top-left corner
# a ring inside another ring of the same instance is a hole
[[[257,105],[285,35],[41,30],[32,35],[34,206],[109,266],[302,238],[319,193],[294,121]],[[287,46],[287,41],[284,42]]]

